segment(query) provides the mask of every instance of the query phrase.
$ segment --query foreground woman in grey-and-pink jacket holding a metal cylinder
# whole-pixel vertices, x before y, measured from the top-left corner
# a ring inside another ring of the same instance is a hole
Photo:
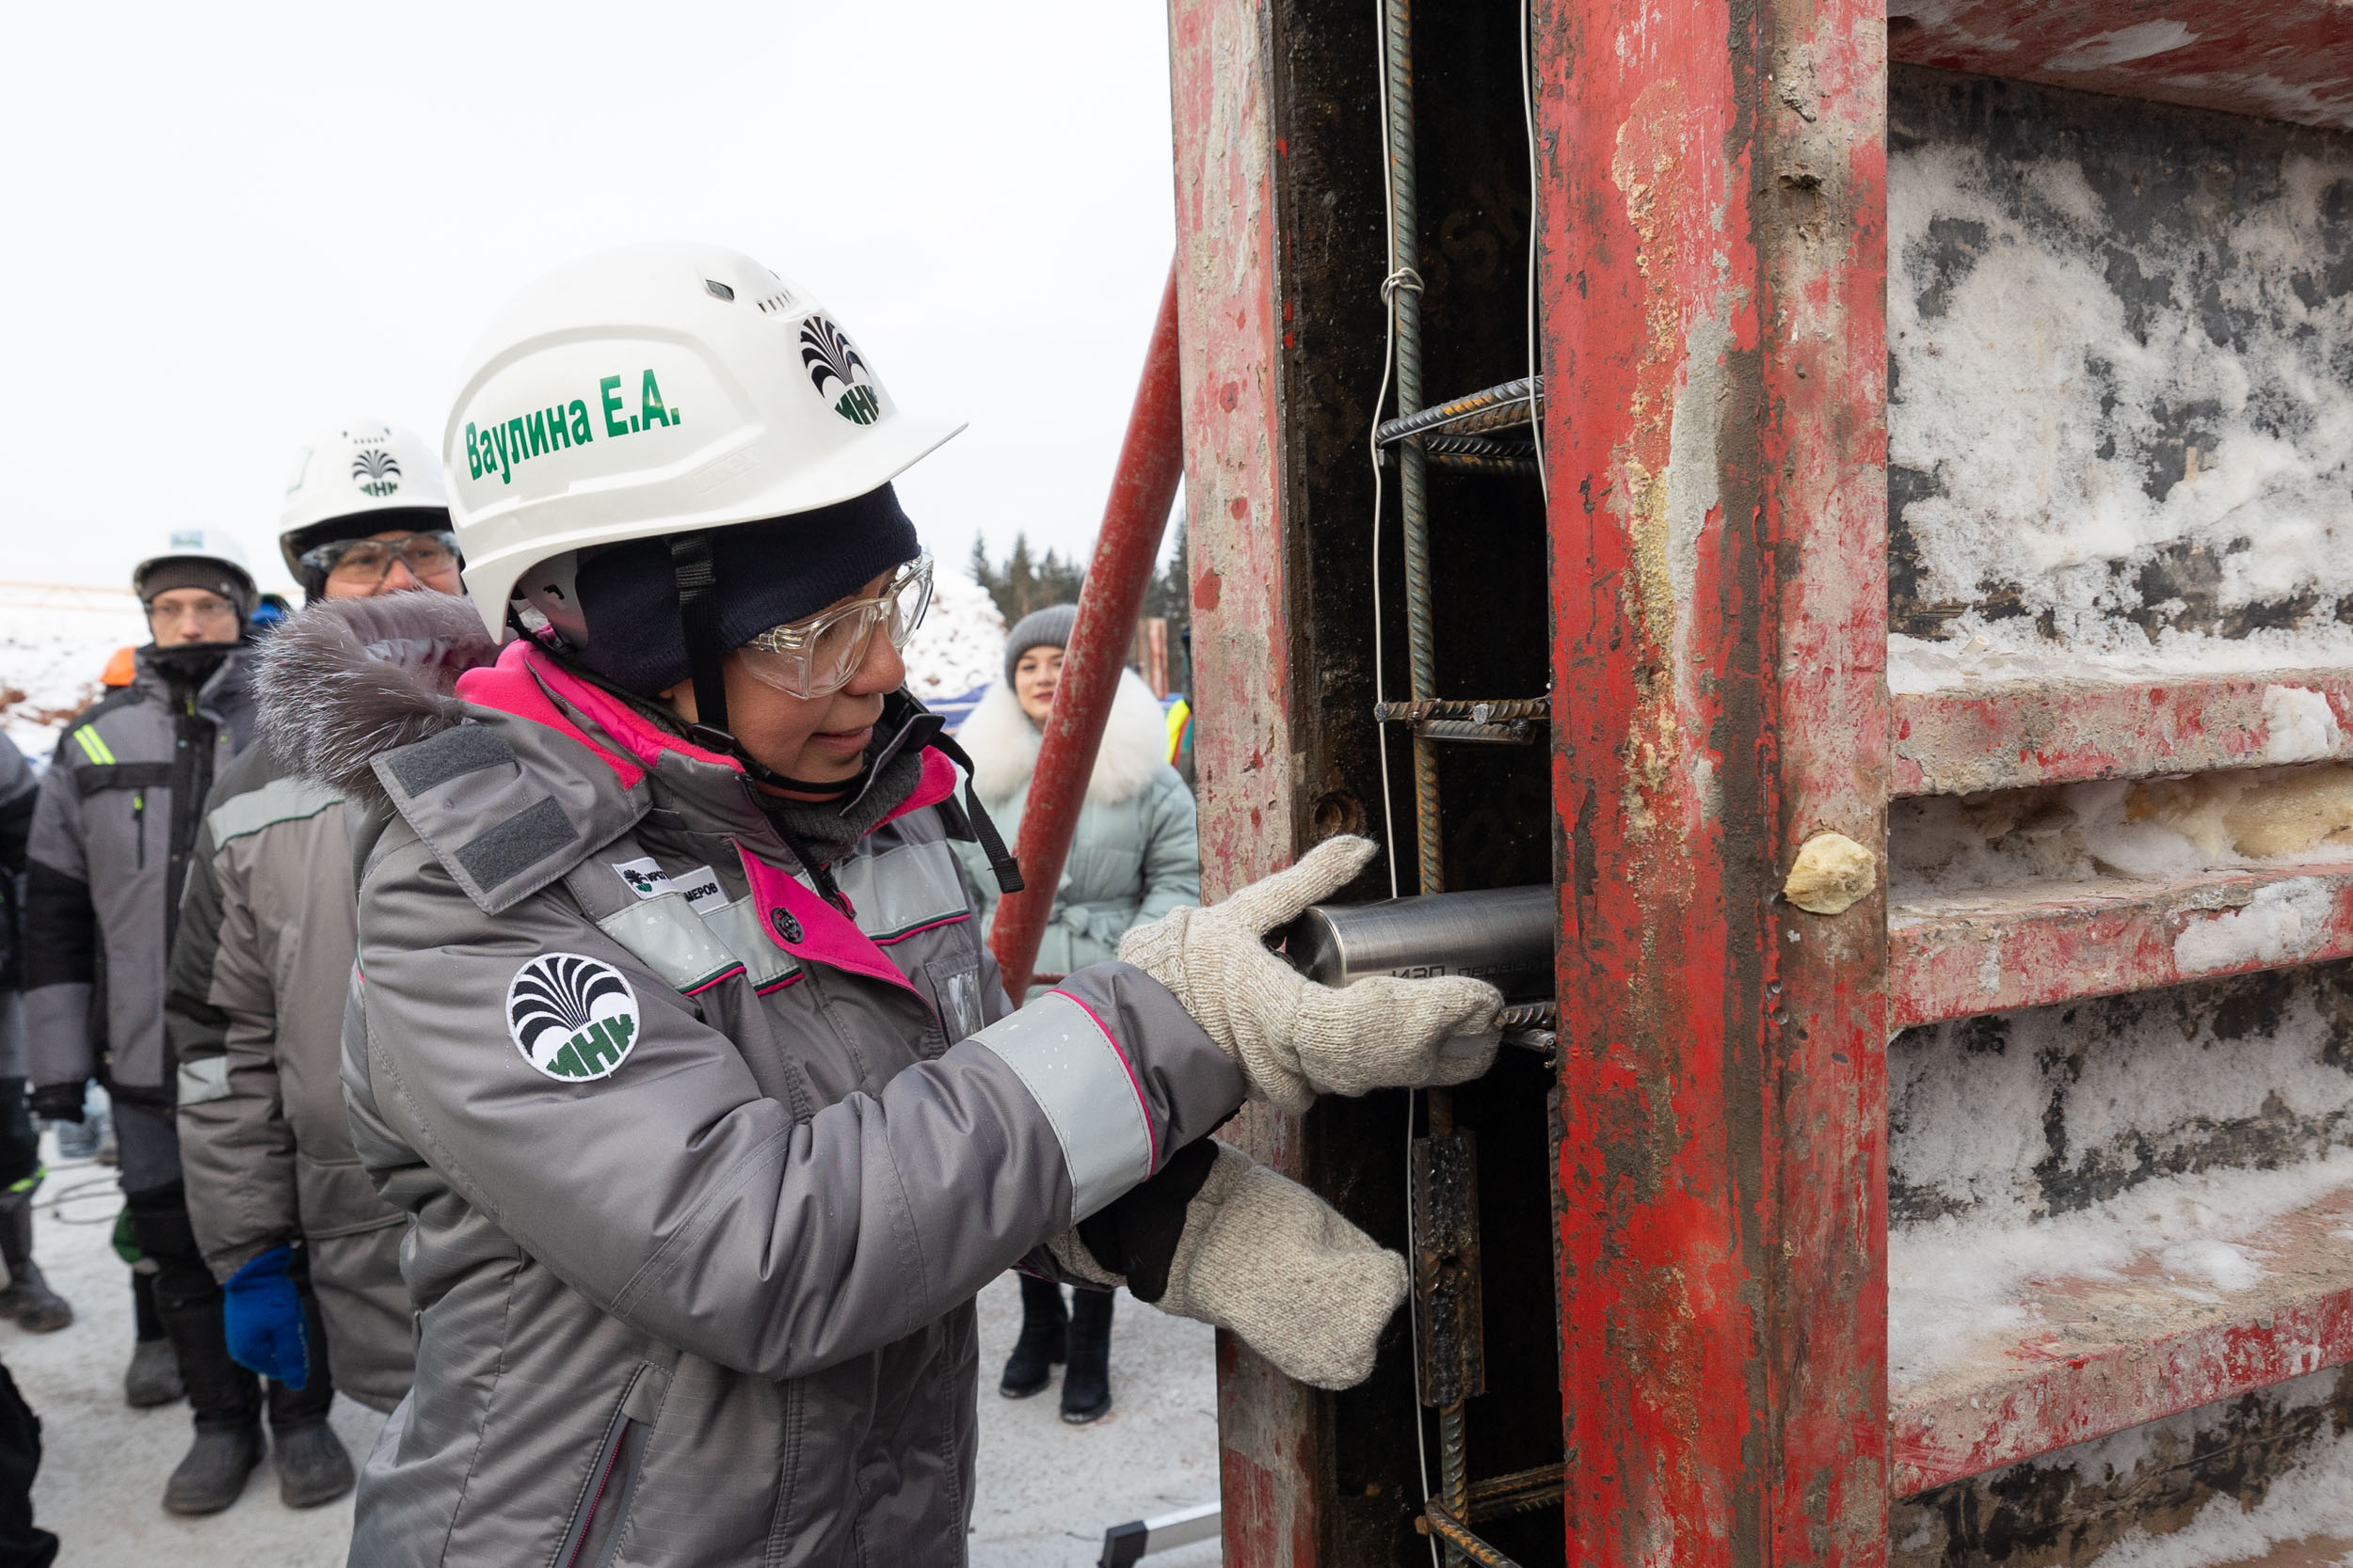
[[[1369,1371],[1402,1260],[1207,1133],[1471,1077],[1499,999],[1268,954],[1337,842],[1007,1013],[948,839],[1019,872],[901,691],[889,482],[948,435],[748,256],[595,256],[499,315],[442,444],[496,665],[402,696],[351,607],[275,635],[353,675],[266,679],[264,724],[367,823],[344,1081],[414,1215],[351,1561],[960,1563],[1014,1262]]]

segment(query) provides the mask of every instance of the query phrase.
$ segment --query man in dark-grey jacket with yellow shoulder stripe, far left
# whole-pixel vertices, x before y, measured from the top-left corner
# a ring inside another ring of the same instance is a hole
[[[101,1074],[113,1095],[122,1197],[167,1335],[139,1338],[125,1394],[169,1403],[186,1382],[195,1443],[165,1507],[209,1512],[219,1434],[249,1415],[221,1394],[224,1368],[238,1368],[221,1340],[221,1291],[188,1237],[162,978],[205,792],[252,731],[254,578],[219,529],[172,529],[160,543],[132,571],[153,642],[127,686],[66,726],[40,780],[24,1013],[35,1112],[80,1121],[82,1086]]]

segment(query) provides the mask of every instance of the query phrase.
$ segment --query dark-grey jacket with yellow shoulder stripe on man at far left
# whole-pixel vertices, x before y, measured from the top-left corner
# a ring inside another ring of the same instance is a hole
[[[92,703],[40,780],[26,867],[31,1079],[169,1105],[162,976],[205,795],[252,729],[247,651],[193,686],[144,646],[132,684]]]

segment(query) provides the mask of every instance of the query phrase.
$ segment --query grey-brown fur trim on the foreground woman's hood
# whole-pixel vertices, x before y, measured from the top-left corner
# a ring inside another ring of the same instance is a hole
[[[456,677],[496,658],[482,616],[456,595],[322,599],[261,644],[261,741],[289,771],[384,804],[369,762],[464,719]]]

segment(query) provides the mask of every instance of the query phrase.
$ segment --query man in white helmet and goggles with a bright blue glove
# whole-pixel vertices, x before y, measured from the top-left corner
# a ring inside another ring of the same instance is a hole
[[[464,592],[440,463],[381,421],[304,444],[278,527],[313,604]],[[374,651],[433,654],[398,639]],[[228,1354],[249,1368],[231,1375],[247,1394],[254,1373],[275,1380],[271,1458],[287,1507],[351,1490],[351,1455],[327,1427],[334,1389],[391,1410],[409,1387],[405,1215],[360,1168],[339,1081],[353,945],[344,799],[268,748],[247,750],[205,802],[165,1018],[193,1244],[226,1291]],[[228,1497],[261,1462],[261,1422],[233,1439]]]

